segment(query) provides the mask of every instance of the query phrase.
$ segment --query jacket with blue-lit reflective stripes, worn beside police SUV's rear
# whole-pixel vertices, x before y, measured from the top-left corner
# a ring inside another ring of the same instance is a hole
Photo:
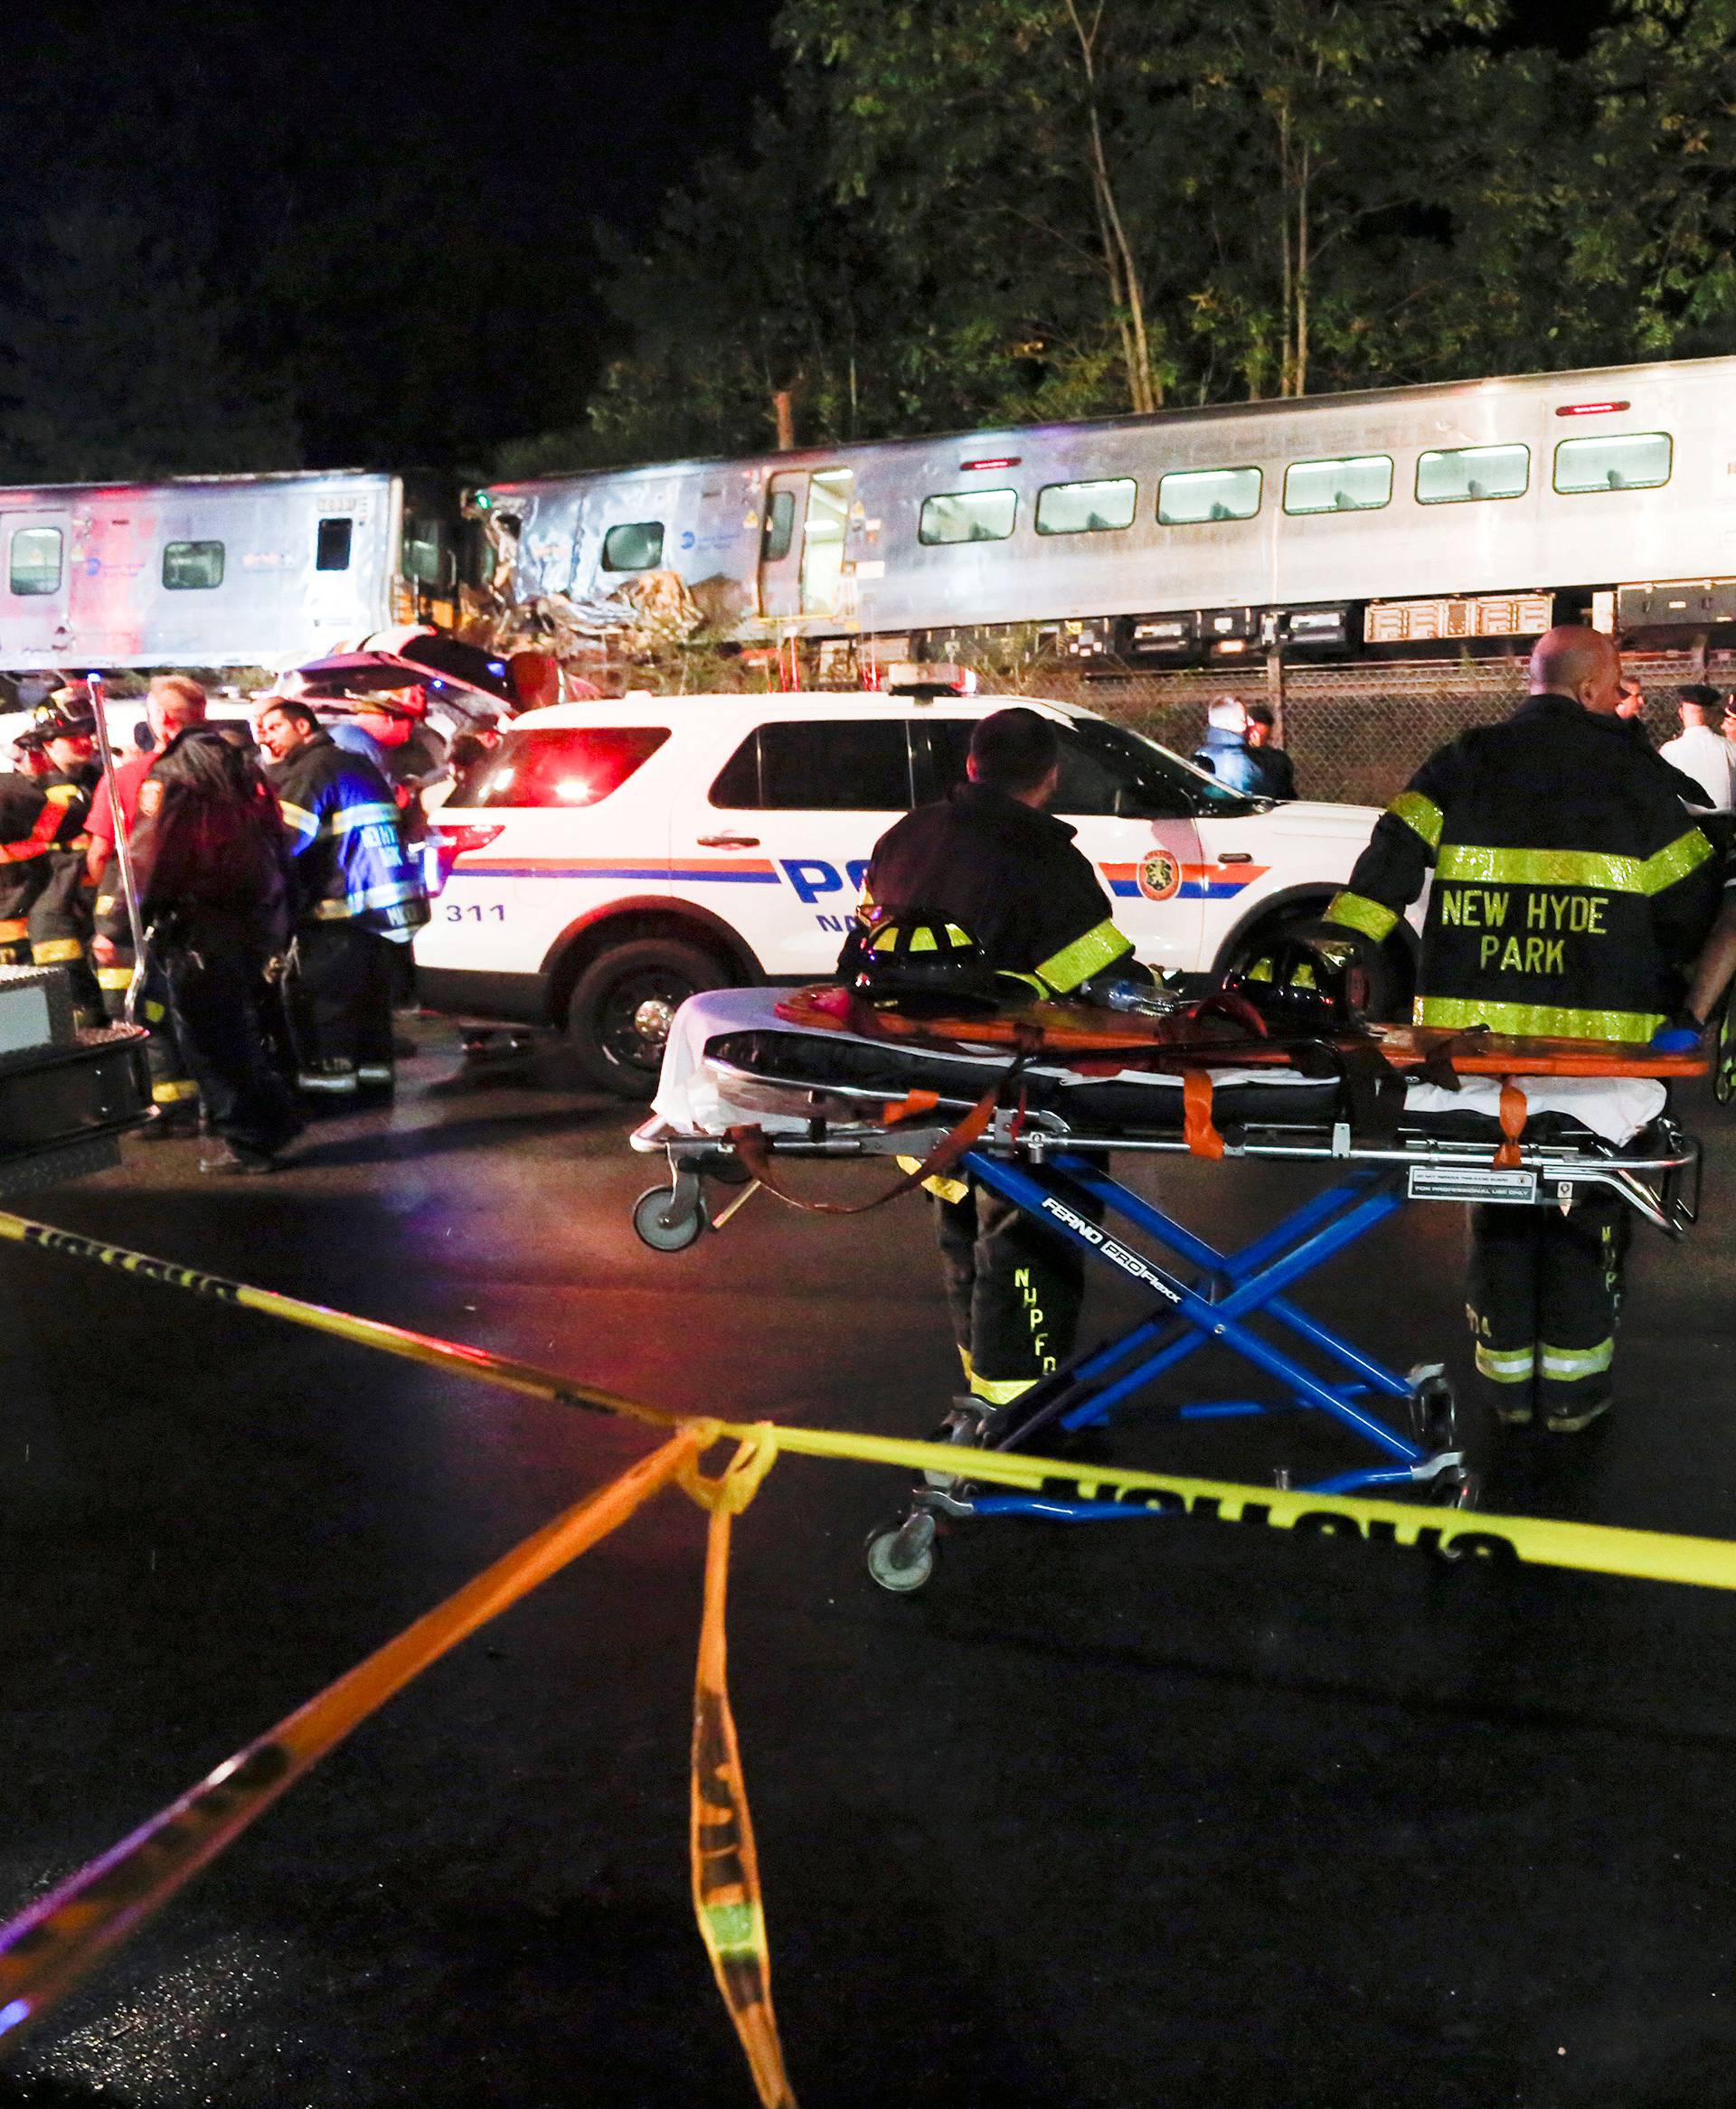
[[[327,732],[266,770],[295,856],[300,922],[348,922],[407,939],[428,920],[392,787]]]

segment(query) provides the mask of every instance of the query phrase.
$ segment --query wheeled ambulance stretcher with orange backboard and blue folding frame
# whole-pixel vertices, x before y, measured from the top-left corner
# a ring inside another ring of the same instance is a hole
[[[1477,1478],[1445,1365],[1388,1367],[1306,1312],[1295,1289],[1411,1202],[1565,1208],[1601,1192],[1671,1238],[1698,1215],[1700,1145],[1666,1101],[1669,1076],[1704,1069],[1692,1054],[1396,1033],[1396,1071],[1382,1057],[1396,1088],[1371,1095],[1348,1080],[1356,1065],[1346,1050],[1325,1042],[1253,1048],[1236,1027],[1200,1046],[1185,1031],[1145,1027],[1141,1038],[1133,1021],[1067,1008],[1063,1031],[1048,1036],[1042,1019],[1023,1033],[970,1019],[901,1019],[886,1031],[842,991],[692,998],[675,1019],[652,1118],[633,1135],[637,1152],[669,1164],[667,1185],[635,1204],[639,1238],[683,1251],[759,1187],[854,1213],[937,1173],[970,1177],[1118,1274],[1145,1308],[1010,1407],[960,1402],[943,1440],[1042,1449],[1101,1428],[1162,1384],[1177,1419],[1323,1415],[1350,1457],[1304,1481],[1316,1491],[1470,1506]],[[1460,1044],[1443,1048],[1447,1038]],[[1219,1251],[1112,1177],[1110,1152],[1308,1162],[1329,1179],[1251,1242]],[[804,1160],[880,1164],[882,1194],[854,1206],[797,1196],[783,1166]],[[905,1168],[886,1185],[894,1160]],[[1177,1373],[1207,1346],[1247,1365],[1261,1396],[1190,1396]],[[1278,1485],[1291,1485],[1282,1468]],[[941,1516],[1088,1523],[1143,1512],[1076,1491],[979,1489],[960,1457],[958,1476],[918,1487],[909,1512],[869,1537],[869,1573],[892,1590],[920,1588]]]

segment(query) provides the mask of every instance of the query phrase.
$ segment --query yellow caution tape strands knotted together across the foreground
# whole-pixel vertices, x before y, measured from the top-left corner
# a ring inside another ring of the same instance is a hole
[[[420,1670],[589,1550],[671,1481],[711,1512],[705,1569],[705,1620],[694,1679],[692,1746],[692,1888],[694,1909],[719,1991],[749,2058],[764,2109],[795,2109],[770,1991],[770,1951],[759,1890],[759,1864],[734,1715],[728,1696],[724,1615],[732,1518],[753,1499],[780,1451],[840,1457],[856,1464],[941,1472],[947,1478],[1015,1487],[1055,1499],[1110,1502],[1129,1510],[1185,1514],[1215,1523],[1259,1525],[1306,1535],[1361,1537],[1369,1544],[1415,1546],[1447,1559],[1519,1559],[1588,1573],[1736,1588],[1736,1544],[1664,1531],[1628,1531],[1599,1523],[1544,1516],[1496,1516],[1426,1508],[1344,1493],[1276,1491],[1230,1481],[1135,1472],[1118,1466],[1072,1466],[1021,1451],[960,1451],[949,1443],[909,1443],[835,1428],[738,1424],[664,1413],[593,1386],[481,1348],[411,1333],[375,1318],[306,1303],[268,1289],[74,1232],[51,1230],[0,1211],[0,1238],[42,1251],[93,1259],[146,1280],[306,1324],[359,1346],[557,1405],[618,1413],[675,1430],[658,1451],[622,1478],[580,1502],[534,1537],[496,1561],[435,1611],[386,1643],[276,1729],[219,1765],[152,1822],[122,1839],[40,1902],[0,1928],[0,2044],[17,2037],[200,1866],[221,1852],[287,1786],[325,1757],[352,1727],[401,1691]],[[698,1459],[711,1443],[734,1438],[736,1457],[719,1478]],[[1462,1521],[1466,1518],[1466,1521]]]

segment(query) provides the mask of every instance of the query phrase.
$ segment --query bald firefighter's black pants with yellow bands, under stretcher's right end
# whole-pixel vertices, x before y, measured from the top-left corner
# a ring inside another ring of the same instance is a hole
[[[1470,1215],[1477,1390],[1502,1419],[1571,1417],[1605,1398],[1628,1213],[1614,1196]]]

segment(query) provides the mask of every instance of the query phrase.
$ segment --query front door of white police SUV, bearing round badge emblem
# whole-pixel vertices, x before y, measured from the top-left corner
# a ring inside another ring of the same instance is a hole
[[[922,797],[943,797],[964,776],[975,723],[977,717],[928,719],[924,713],[918,725],[918,755],[928,751],[926,782],[918,768]],[[1188,772],[1103,719],[1057,717],[1055,730],[1061,787],[1050,812],[1078,831],[1078,848],[1110,894],[1116,928],[1145,966],[1194,972],[1207,890]]]

